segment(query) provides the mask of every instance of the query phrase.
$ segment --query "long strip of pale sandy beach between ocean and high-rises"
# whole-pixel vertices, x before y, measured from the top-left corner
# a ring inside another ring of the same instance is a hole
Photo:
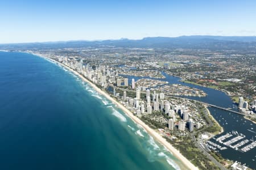
[[[140,120],[138,117],[134,116],[133,113],[131,113],[127,108],[125,108],[121,103],[119,103],[117,100],[113,99],[109,94],[107,94],[105,91],[102,91],[100,88],[96,86],[96,84],[93,84],[88,79],[86,79],[84,76],[79,74],[77,71],[69,68],[68,66],[65,66],[63,63],[57,62],[51,58],[44,57],[41,54],[31,53],[34,56],[42,57],[51,60],[52,62],[59,63],[61,66],[65,67],[69,71],[72,71],[72,73],[78,75],[84,82],[88,83],[91,87],[94,88],[99,94],[106,97],[106,99],[109,99],[114,104],[117,105],[118,108],[122,109],[122,111],[131,118],[136,124],[141,125],[149,135],[151,135],[156,141],[158,141],[161,145],[167,148],[169,152],[171,152],[172,155],[174,155],[177,159],[180,160],[181,163],[183,163],[184,167],[187,167],[188,169],[199,169],[195,165],[193,165],[187,158],[185,158],[176,148],[174,148],[171,143],[168,143],[166,139],[164,139],[159,133],[157,133],[154,129],[151,129],[148,125],[146,125],[142,120]]]

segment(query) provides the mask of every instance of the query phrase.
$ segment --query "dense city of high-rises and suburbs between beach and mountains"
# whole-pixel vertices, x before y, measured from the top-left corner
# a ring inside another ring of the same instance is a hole
[[[116,46],[19,51],[48,57],[76,70],[158,131],[200,169],[246,169],[240,163],[222,158],[212,149],[225,150],[226,147],[208,141],[220,134],[222,128],[210,115],[207,105],[184,98],[208,94],[184,84],[171,84],[164,74],[177,76],[181,78],[180,82],[225,92],[232,97],[241,114],[256,122],[254,52]],[[237,134],[237,138],[242,135]],[[242,145],[231,144],[225,143],[227,147],[235,148]],[[250,147],[255,146],[253,142]]]

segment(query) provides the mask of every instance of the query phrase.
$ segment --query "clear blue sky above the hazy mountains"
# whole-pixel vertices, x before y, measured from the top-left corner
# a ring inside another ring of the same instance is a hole
[[[0,1],[0,43],[255,36],[256,1]]]

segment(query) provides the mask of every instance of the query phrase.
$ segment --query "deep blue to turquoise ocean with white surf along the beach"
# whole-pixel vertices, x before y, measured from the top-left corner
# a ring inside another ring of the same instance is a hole
[[[69,71],[0,52],[0,169],[184,169]]]

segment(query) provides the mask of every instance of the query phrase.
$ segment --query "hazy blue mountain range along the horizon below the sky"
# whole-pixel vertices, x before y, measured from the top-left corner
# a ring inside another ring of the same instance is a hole
[[[102,41],[57,41],[31,42],[20,44],[0,44],[0,49],[52,49],[81,48],[86,46],[116,46],[127,48],[195,48],[212,50],[256,50],[256,36],[180,36],[146,37],[141,40],[102,40]]]

